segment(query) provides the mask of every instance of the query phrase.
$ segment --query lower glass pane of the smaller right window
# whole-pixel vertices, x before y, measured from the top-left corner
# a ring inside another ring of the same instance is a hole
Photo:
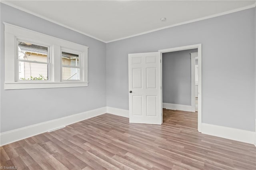
[[[80,68],[62,67],[62,80],[80,80]]]

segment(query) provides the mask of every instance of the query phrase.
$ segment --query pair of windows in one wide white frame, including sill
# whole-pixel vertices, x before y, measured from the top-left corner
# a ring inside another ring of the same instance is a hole
[[[88,86],[88,47],[4,25],[4,89]]]

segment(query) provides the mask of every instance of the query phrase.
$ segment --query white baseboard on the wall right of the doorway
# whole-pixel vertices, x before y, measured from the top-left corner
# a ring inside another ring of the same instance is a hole
[[[254,144],[256,132],[202,123],[202,133]]]

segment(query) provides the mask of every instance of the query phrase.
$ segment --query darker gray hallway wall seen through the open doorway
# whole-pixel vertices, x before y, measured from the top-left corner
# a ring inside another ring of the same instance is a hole
[[[163,103],[191,105],[190,53],[197,49],[163,53]]]

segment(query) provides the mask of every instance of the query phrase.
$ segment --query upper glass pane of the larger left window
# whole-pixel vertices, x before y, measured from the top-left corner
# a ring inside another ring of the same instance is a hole
[[[48,47],[41,45],[35,45],[32,43],[18,41],[18,56],[19,59],[29,60],[29,61],[48,61]]]

